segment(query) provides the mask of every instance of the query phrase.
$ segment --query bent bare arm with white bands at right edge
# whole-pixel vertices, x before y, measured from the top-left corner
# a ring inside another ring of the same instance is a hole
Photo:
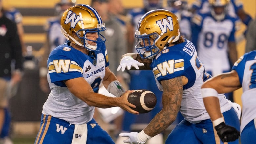
[[[212,121],[222,117],[218,93],[233,92],[241,87],[235,70],[212,77],[202,85],[203,103]]]

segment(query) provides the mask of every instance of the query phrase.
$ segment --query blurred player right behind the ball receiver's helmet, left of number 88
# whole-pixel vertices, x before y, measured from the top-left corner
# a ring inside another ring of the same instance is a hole
[[[173,12],[178,17],[181,35],[190,40],[192,13],[189,11],[187,0],[167,0],[166,10]]]

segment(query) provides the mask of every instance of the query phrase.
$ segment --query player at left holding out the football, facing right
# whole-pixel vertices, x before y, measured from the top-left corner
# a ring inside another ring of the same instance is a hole
[[[61,32],[69,40],[56,47],[47,61],[51,92],[43,105],[35,144],[114,144],[93,119],[95,107],[119,106],[133,114],[128,94],[109,70],[105,30],[98,12],[89,5],[68,8],[61,17]],[[99,94],[103,83],[117,97]],[[122,95],[122,96],[121,96]]]

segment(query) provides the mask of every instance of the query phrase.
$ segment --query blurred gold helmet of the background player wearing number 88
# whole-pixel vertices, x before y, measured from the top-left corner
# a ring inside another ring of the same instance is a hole
[[[227,13],[226,6],[228,5],[230,0],[208,0],[208,1],[211,7],[212,16],[218,21],[223,20]]]

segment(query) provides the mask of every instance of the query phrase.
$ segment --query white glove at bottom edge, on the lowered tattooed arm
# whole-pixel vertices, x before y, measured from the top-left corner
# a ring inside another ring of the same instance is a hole
[[[145,134],[144,130],[141,132],[131,132],[131,133],[120,133],[119,136],[128,137],[128,139],[124,140],[124,143],[131,143],[131,144],[143,144],[151,137]]]

